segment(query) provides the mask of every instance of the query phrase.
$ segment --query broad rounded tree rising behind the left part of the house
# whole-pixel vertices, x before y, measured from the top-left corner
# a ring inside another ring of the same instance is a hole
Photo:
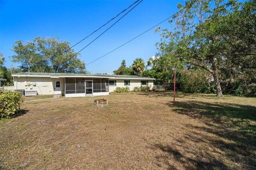
[[[69,42],[54,38],[35,38],[32,42],[16,41],[11,56],[22,71],[53,73],[87,73],[85,63],[78,59]]]

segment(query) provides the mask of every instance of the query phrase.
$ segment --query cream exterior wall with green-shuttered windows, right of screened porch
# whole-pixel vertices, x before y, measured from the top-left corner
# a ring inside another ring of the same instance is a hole
[[[150,89],[152,89],[154,85],[153,80],[146,80],[146,79],[109,79],[109,80],[116,80],[116,86],[109,86],[109,92],[113,92],[116,89],[116,87],[129,87],[130,91],[132,91],[134,87],[141,86],[141,81],[148,81],[148,86],[150,87]],[[130,86],[125,86],[124,80],[130,80]]]

